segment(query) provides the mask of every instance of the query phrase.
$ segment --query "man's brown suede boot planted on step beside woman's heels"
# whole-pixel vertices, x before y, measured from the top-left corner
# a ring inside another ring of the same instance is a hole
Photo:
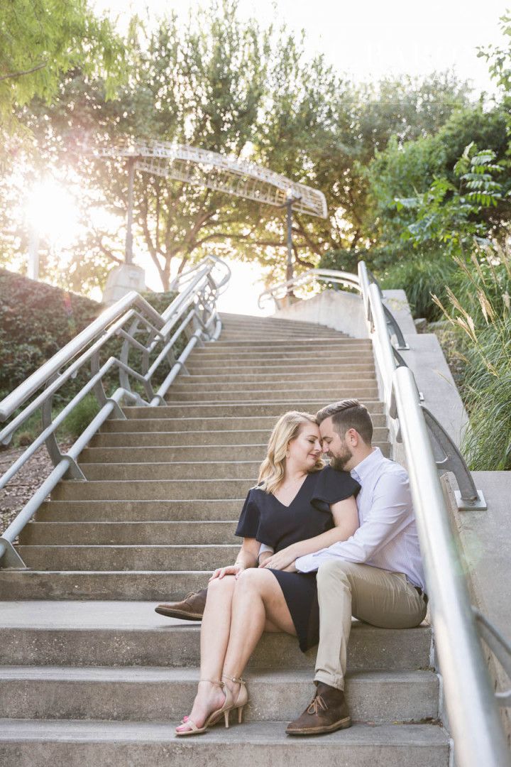
[[[288,735],[321,735],[352,724],[342,690],[318,682],[316,695],[302,716],[287,726]]]

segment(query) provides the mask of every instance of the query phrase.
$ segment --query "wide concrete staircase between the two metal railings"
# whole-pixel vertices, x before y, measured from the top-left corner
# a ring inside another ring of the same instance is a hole
[[[354,622],[347,695],[355,725],[291,739],[310,700],[314,650],[263,638],[243,726],[175,739],[198,679],[199,627],[156,601],[234,561],[235,521],[276,417],[359,397],[388,450],[372,349],[317,325],[224,315],[168,405],[126,407],[21,536],[26,571],[0,571],[0,763],[30,767],[257,765],[447,767],[431,631]]]

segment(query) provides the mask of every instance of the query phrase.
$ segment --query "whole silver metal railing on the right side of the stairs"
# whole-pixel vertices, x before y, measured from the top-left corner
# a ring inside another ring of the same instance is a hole
[[[270,288],[261,298],[273,298],[277,303],[294,285],[315,280],[349,285],[361,293],[383,399],[395,421],[397,439],[405,447],[456,763],[460,767],[505,767],[509,765],[509,751],[497,704],[509,705],[511,695],[493,693],[480,638],[508,673],[510,648],[498,630],[470,605],[439,473],[454,472],[460,508],[486,508],[483,496],[457,447],[421,404],[414,374],[391,344],[391,337],[396,337],[401,347],[405,339],[401,331],[396,332],[395,319],[389,320],[382,291],[364,262],[359,263],[358,276],[339,272],[336,278],[334,270],[313,269],[296,281]]]

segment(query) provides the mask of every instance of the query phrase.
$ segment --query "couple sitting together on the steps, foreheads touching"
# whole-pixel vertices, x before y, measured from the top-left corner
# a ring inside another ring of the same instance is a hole
[[[205,732],[222,716],[228,726],[233,709],[241,722],[249,696],[241,674],[264,631],[292,634],[303,651],[319,641],[316,692],[286,732],[349,727],[343,690],[352,615],[411,628],[427,610],[408,475],[372,447],[368,410],[343,400],[316,416],[281,416],[236,535],[243,544],[234,565],[218,568],[207,591],[156,607],[202,619],[198,691],[176,735]]]

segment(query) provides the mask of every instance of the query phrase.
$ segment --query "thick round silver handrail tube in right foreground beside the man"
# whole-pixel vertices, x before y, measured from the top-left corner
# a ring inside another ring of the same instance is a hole
[[[505,767],[506,738],[414,375],[399,367],[392,379],[456,761],[460,767]]]

